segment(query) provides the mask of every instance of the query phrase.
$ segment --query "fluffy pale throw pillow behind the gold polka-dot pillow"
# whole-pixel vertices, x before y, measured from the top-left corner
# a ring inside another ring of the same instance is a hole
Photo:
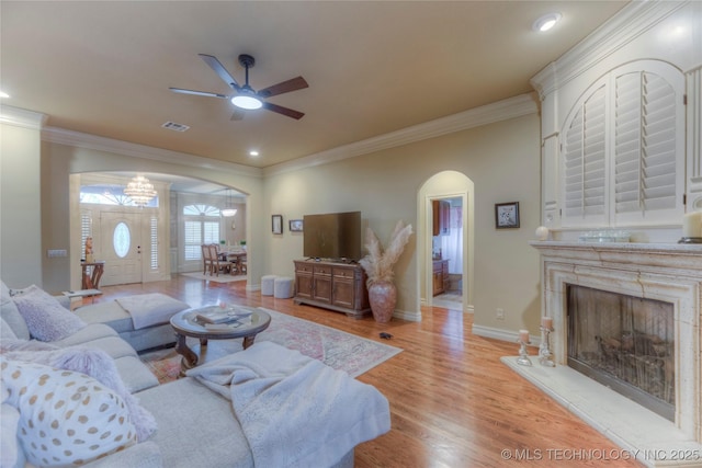
[[[82,346],[45,351],[27,351],[22,349],[5,352],[3,356],[12,361],[44,364],[57,369],[86,374],[113,390],[124,400],[129,411],[132,423],[136,430],[138,442],[146,441],[151,433],[156,431],[156,420],[154,415],[141,407],[137,398],[129,392],[122,377],[120,377],[114,359],[102,350]]]

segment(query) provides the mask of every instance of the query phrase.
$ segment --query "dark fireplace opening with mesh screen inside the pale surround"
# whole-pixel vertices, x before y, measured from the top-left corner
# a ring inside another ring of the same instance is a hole
[[[567,285],[568,366],[675,422],[673,305]]]

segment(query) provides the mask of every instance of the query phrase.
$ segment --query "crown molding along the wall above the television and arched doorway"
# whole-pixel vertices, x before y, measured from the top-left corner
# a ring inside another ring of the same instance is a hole
[[[468,128],[479,127],[495,122],[521,117],[539,112],[539,104],[534,93],[520,94],[514,98],[498,101],[469,111],[437,118],[423,124],[414,125],[397,132],[364,139],[326,151],[309,155],[293,161],[269,165],[263,170],[265,176],[282,174],[341,161],[356,156],[367,155],[384,149],[396,148],[429,138],[440,137]]]

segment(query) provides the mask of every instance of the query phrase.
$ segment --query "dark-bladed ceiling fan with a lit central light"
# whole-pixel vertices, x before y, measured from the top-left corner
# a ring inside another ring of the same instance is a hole
[[[253,65],[256,65],[256,60],[252,56],[248,54],[239,55],[239,64],[246,68],[246,83],[240,85],[216,57],[206,54],[197,55],[200,55],[200,57],[205,60],[205,64],[207,64],[210,68],[212,68],[215,73],[217,73],[217,76],[235,91],[234,94],[219,94],[206,91],[185,90],[182,88],[169,88],[171,91],[182,94],[195,94],[229,100],[237,107],[234,115],[231,115],[233,121],[244,118],[244,112],[240,110],[254,110],[261,107],[296,119],[301,119],[305,115],[302,112],[283,107],[282,105],[267,101],[268,98],[309,87],[303,77],[293,78],[278,84],[273,84],[272,87],[254,91],[253,88],[249,85],[249,68],[252,68]]]

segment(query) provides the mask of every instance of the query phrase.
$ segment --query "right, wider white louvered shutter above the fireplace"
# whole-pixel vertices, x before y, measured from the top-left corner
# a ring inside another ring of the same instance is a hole
[[[616,73],[619,71],[619,73]],[[684,209],[684,80],[661,62],[615,70],[613,224],[679,222]]]

